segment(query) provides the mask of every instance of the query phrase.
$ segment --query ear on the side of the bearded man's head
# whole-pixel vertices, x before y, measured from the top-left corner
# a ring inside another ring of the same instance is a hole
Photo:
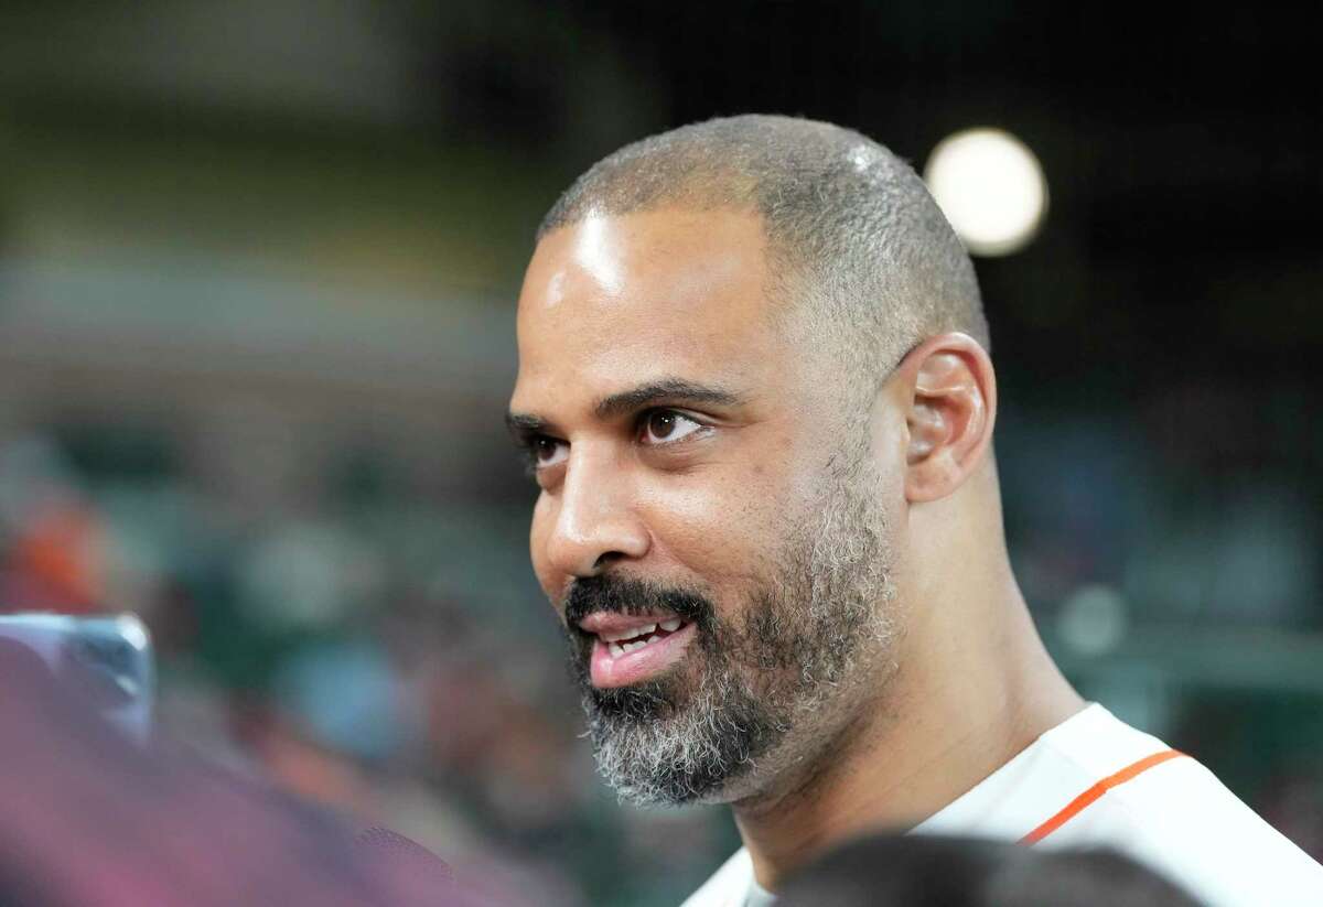
[[[992,443],[996,374],[976,340],[946,333],[914,348],[897,366],[909,440],[905,497],[946,497],[982,463]]]

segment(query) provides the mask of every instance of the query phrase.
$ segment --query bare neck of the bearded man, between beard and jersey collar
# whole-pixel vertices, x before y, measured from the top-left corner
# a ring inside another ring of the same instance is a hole
[[[880,678],[823,755],[779,780],[775,793],[734,805],[759,885],[775,890],[864,830],[917,825],[1084,706],[1008,571],[1004,579],[1009,595],[986,608],[990,620],[964,621],[966,632],[947,635],[943,615],[967,619],[968,608],[927,608],[930,625],[912,627],[901,644],[901,668]]]

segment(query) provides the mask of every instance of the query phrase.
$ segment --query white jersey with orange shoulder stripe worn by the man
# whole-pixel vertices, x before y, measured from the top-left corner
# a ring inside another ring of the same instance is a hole
[[[1097,703],[910,833],[1020,841],[1036,830],[1035,846],[1114,848],[1211,907],[1323,904],[1323,866],[1207,768]],[[741,848],[683,907],[766,903]]]

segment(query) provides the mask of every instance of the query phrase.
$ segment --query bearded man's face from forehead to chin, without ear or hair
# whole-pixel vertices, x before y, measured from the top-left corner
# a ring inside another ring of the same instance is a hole
[[[767,286],[755,217],[660,210],[546,235],[520,296],[533,569],[635,801],[757,793],[882,661],[897,477]]]

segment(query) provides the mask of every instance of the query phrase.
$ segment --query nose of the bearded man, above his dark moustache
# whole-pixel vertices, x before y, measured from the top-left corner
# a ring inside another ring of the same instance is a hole
[[[630,479],[609,454],[573,451],[558,498],[545,551],[562,576],[595,576],[613,562],[647,554]]]

